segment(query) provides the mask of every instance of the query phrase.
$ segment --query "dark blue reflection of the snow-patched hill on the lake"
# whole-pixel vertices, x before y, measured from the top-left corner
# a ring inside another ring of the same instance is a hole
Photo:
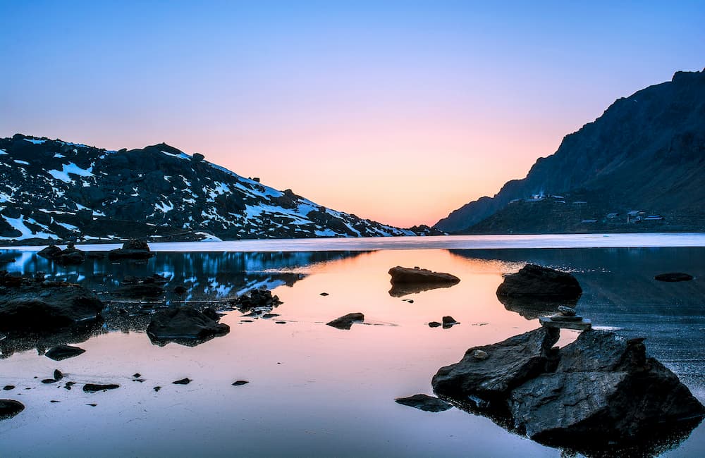
[[[37,348],[43,353],[59,343],[78,343],[97,333],[111,330],[143,331],[158,309],[188,302],[194,307],[222,309],[228,299],[243,295],[258,287],[272,289],[281,285],[291,286],[307,276],[315,264],[337,261],[362,254],[362,252],[159,252],[145,261],[109,261],[87,259],[80,266],[59,266],[37,256],[36,252],[4,251],[15,261],[1,266],[10,273],[31,276],[44,272],[50,280],[79,283],[97,292],[106,302],[102,312],[105,323],[92,329],[63,329],[52,335],[8,335],[1,340],[1,357],[13,352]],[[166,292],[153,298],[130,298],[112,294],[121,286],[125,276],[149,277],[157,273],[166,278],[161,285]],[[177,295],[174,287],[183,285],[185,295]]]

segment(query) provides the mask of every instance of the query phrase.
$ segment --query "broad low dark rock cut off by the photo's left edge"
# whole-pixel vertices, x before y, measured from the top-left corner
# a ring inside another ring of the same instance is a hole
[[[0,295],[0,330],[47,330],[100,321],[102,309],[100,299],[79,285],[20,278],[19,285]]]

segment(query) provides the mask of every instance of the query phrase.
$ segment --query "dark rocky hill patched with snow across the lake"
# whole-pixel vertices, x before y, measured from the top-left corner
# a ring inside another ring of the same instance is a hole
[[[404,230],[326,209],[167,144],[106,151],[0,139],[0,241],[371,237]]]

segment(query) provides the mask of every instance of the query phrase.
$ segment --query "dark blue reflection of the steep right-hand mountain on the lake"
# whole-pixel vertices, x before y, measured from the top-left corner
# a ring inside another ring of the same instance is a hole
[[[594,326],[646,337],[649,351],[685,379],[705,387],[705,248],[450,250],[473,261],[498,261],[506,271],[531,262],[570,271],[580,281],[580,314]],[[512,265],[509,265],[512,264]],[[513,265],[516,264],[516,265]],[[686,272],[692,281],[654,280]]]

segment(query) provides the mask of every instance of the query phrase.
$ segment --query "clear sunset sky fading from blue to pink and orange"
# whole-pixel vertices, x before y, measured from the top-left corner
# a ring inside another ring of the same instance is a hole
[[[0,137],[166,142],[403,227],[705,67],[705,1],[0,0],[0,17]]]

